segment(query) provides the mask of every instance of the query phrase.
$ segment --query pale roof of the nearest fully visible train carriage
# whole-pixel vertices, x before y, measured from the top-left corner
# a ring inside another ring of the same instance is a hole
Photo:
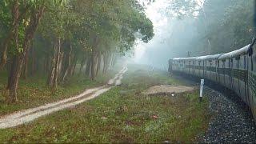
[[[244,46],[241,49],[231,51],[230,53],[223,54],[218,59],[223,60],[227,58],[235,58],[242,54],[247,54],[248,50],[250,49],[250,45]]]

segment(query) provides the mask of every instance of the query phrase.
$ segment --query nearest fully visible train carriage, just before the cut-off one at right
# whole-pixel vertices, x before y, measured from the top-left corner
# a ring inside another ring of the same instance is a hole
[[[248,104],[247,98],[247,58],[250,45],[230,53],[223,54],[218,58],[221,62],[219,68],[220,83],[230,90],[234,90],[244,102]],[[224,68],[224,69],[222,69]]]

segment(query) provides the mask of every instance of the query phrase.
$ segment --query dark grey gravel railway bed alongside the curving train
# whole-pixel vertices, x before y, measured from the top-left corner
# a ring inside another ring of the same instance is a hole
[[[174,75],[188,86],[199,86],[200,79]],[[209,98],[213,119],[204,135],[198,135],[200,143],[255,143],[254,118],[242,99],[233,91],[206,81],[204,97]]]

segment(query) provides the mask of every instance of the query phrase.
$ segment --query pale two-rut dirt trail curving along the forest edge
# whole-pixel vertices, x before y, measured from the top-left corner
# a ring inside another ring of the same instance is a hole
[[[100,94],[105,93],[110,90],[115,84],[115,86],[121,85],[122,74],[126,73],[128,70],[124,67],[114,78],[110,79],[108,85],[99,86],[93,89],[85,90],[82,94],[77,96],[66,98],[58,102],[52,102],[44,106],[38,106],[27,110],[20,110],[13,114],[8,114],[0,118],[0,129],[10,128],[18,125],[22,125],[26,122],[32,122],[34,119],[42,117],[47,114],[54,113],[59,110],[64,110],[66,108],[76,106],[82,102],[86,102],[92,98],[98,97]]]

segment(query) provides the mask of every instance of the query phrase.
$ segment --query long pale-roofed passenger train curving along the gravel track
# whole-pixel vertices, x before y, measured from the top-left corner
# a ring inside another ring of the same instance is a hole
[[[168,71],[204,78],[234,91],[250,107],[256,123],[255,41],[229,53],[171,58]]]

